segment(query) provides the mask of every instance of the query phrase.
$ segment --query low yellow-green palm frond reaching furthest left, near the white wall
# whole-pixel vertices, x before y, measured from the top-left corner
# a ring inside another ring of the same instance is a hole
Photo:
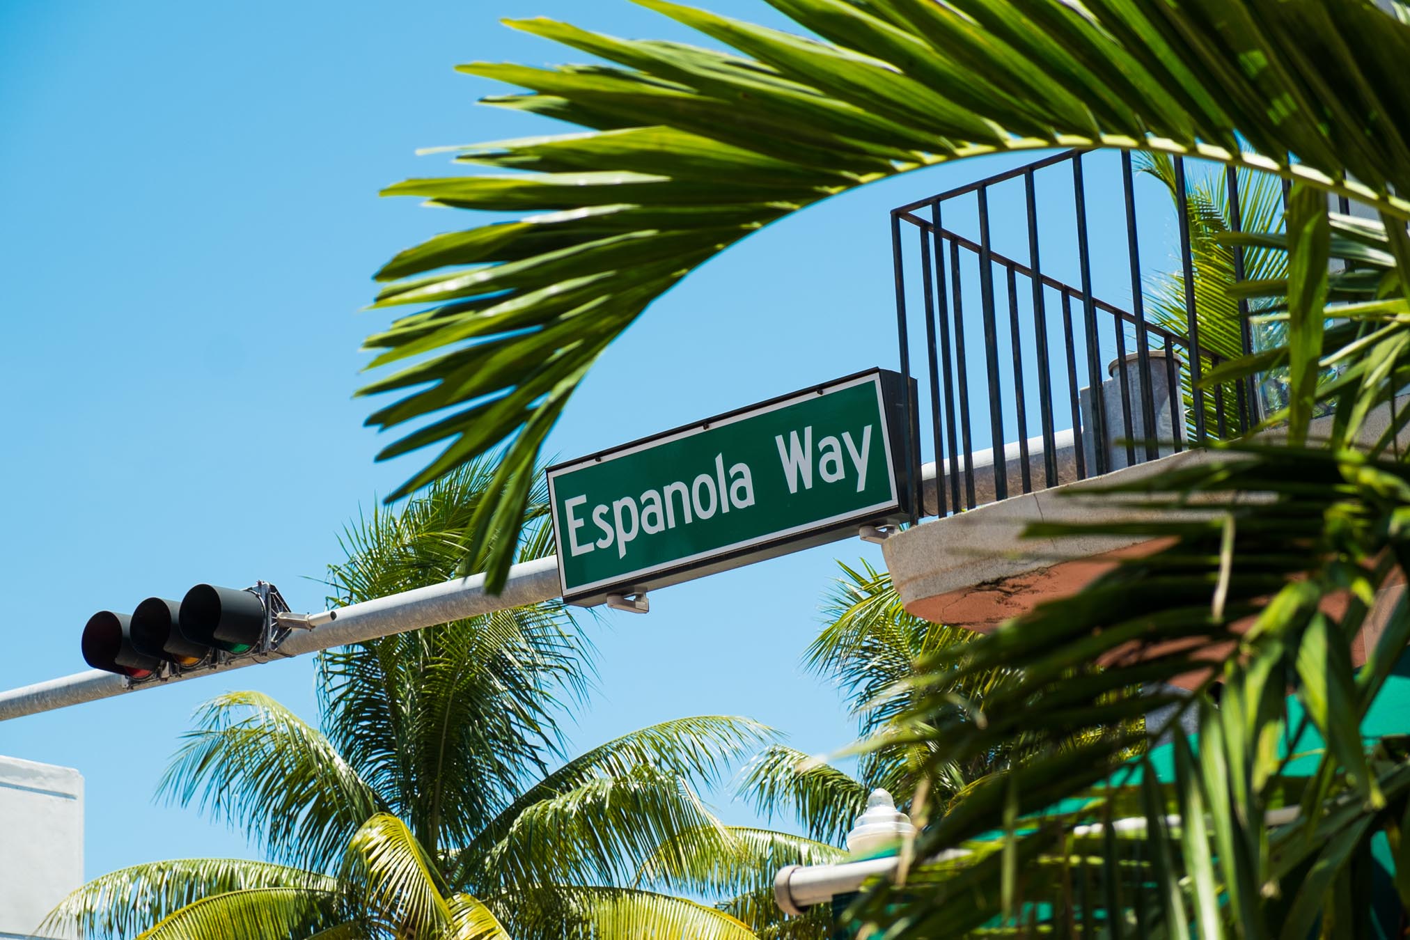
[[[39,926],[44,936],[131,937],[188,905],[231,891],[309,888],[327,875],[243,858],[173,858],[110,871],[69,892]]]

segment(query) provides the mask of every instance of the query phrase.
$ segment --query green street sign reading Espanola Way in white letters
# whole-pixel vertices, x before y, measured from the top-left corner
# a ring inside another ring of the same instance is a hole
[[[550,466],[564,599],[601,603],[909,519],[905,399],[898,373],[870,369]]]

